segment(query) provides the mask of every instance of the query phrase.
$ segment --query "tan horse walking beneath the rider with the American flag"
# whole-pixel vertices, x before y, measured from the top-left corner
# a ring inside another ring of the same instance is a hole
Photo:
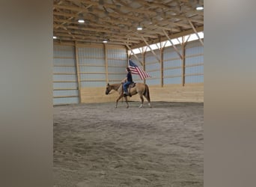
[[[108,83],[108,85],[106,86],[106,95],[108,95],[109,92],[112,91],[112,90],[117,91],[119,93],[118,99],[116,100],[115,107],[118,107],[119,99],[121,99],[124,96],[125,101],[127,102],[127,108],[129,108],[128,101],[127,101],[127,96],[123,94],[123,92],[124,92],[123,91],[123,85],[121,83],[109,85],[109,83]],[[143,96],[147,99],[148,105],[151,107],[151,105],[150,105],[150,93],[149,93],[148,86],[146,84],[137,82],[137,83],[135,83],[135,87],[128,88],[128,91],[129,91],[130,96],[133,96],[137,93],[140,96],[141,105],[139,105],[139,108],[143,107],[143,102],[144,102]]]

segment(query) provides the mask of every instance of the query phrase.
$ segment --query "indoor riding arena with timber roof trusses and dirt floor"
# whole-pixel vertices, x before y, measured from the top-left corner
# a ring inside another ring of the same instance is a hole
[[[54,187],[204,186],[204,1],[178,2],[54,1]],[[127,67],[150,105],[106,92]]]

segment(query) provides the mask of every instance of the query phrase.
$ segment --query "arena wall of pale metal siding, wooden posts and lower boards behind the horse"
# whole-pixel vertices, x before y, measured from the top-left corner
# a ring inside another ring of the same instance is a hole
[[[177,45],[177,50],[169,46],[128,57],[124,46],[55,43],[54,105],[115,102],[118,93],[106,95],[106,84],[124,79],[128,58],[138,66],[142,61],[144,70],[150,73],[146,80],[137,75],[133,79],[149,85],[151,101],[204,102],[204,46],[197,40],[186,47]],[[132,96],[129,100],[139,98]]]

